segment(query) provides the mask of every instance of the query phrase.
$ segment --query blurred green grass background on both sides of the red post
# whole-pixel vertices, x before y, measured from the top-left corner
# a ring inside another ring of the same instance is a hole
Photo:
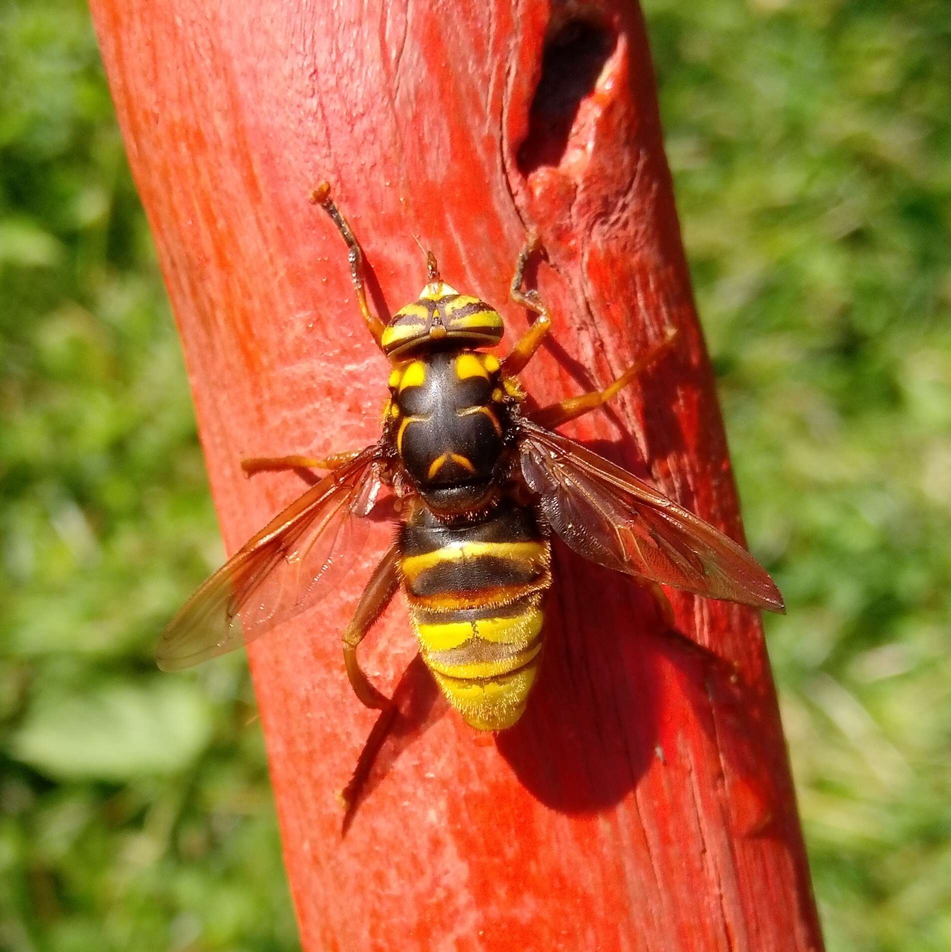
[[[829,949],[944,952],[951,4],[646,13]],[[85,6],[0,77],[0,948],[295,948],[244,661],[151,659],[223,553]]]

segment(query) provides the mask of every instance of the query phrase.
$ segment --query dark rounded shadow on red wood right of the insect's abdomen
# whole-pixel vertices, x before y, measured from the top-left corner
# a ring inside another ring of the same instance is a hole
[[[539,683],[522,719],[496,744],[540,801],[597,812],[620,802],[655,756],[656,663],[642,633],[664,620],[647,589],[610,577],[557,541],[554,550]]]

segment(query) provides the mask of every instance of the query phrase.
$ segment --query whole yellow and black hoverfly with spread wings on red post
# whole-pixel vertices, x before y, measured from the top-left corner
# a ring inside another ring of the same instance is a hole
[[[329,473],[188,600],[162,635],[160,667],[223,654],[314,605],[346,570],[347,549],[384,486],[403,515],[343,634],[347,677],[367,707],[389,701],[362,670],[357,647],[402,587],[423,660],[449,703],[479,730],[515,724],[539,669],[551,533],[649,583],[783,611],[778,589],[740,545],[554,431],[626,387],[672,334],[609,387],[525,412],[517,375],[552,323],[538,292],[524,287],[537,238],[529,236],[511,282],[512,300],[537,317],[499,360],[485,349],[501,341],[502,317],[449,287],[431,252],[419,298],[384,323],[367,304],[360,246],[327,183],[311,201],[347,244],[357,304],[392,367],[383,433],[372,446],[326,459],[244,462],[248,473],[294,466]]]

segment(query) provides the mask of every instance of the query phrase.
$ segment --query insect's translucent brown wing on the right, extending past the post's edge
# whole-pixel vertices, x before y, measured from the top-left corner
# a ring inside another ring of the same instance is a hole
[[[783,596],[742,546],[560,433],[521,425],[522,474],[554,531],[599,565],[767,611]]]

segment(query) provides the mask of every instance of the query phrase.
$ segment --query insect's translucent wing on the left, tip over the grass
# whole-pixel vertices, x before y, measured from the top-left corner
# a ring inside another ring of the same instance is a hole
[[[246,645],[331,591],[365,538],[359,517],[380,491],[382,453],[368,446],[248,540],[168,624],[159,667],[178,670]]]

